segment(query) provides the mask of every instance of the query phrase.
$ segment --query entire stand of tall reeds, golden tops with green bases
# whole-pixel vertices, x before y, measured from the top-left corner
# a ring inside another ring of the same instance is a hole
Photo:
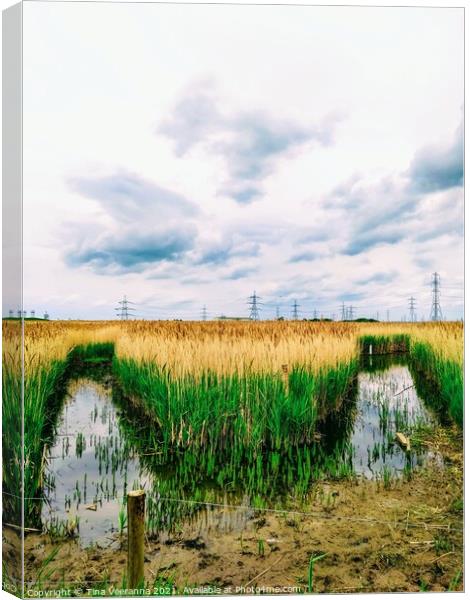
[[[4,511],[15,523],[22,466],[25,496],[41,488],[68,361],[109,360],[112,347],[127,395],[152,415],[168,448],[235,445],[256,456],[308,444],[322,411],[341,404],[366,336],[408,336],[436,404],[463,420],[462,323],[27,321],[24,340],[20,327],[3,323]],[[90,344],[101,344],[98,356],[96,347],[73,350]],[[36,517],[27,507],[27,524]]]

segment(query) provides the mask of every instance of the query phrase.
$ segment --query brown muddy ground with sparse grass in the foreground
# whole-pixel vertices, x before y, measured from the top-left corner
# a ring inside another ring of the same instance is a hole
[[[308,591],[310,559],[325,554],[314,564],[314,592],[461,590],[462,435],[443,428],[421,443],[439,458],[409,481],[393,481],[390,489],[383,482],[322,483],[301,508],[308,514],[257,511],[236,531],[207,528],[196,519],[170,538],[146,540],[148,589]],[[214,509],[210,520],[223,517]],[[98,595],[125,586],[125,537],[107,548],[84,549],[74,540],[32,533],[25,555],[31,590],[66,588],[87,595],[95,589]]]

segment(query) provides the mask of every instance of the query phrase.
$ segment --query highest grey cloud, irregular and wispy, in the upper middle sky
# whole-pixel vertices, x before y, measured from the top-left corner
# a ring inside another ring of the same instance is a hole
[[[157,132],[175,142],[179,155],[202,144],[208,152],[221,156],[228,180],[219,193],[241,204],[261,194],[260,182],[272,171],[276,158],[309,141],[331,143],[339,120],[330,115],[318,125],[302,126],[262,111],[226,115],[219,111],[213,95],[207,83],[191,86]]]

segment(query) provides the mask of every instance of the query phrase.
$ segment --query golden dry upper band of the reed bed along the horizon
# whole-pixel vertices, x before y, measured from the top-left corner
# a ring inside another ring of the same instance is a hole
[[[17,360],[19,323],[4,321],[4,357]],[[306,321],[26,321],[25,370],[62,360],[74,346],[112,342],[121,358],[167,365],[175,375],[278,371],[302,364],[313,370],[349,362],[358,337],[409,334],[434,352],[463,364],[463,324]]]

